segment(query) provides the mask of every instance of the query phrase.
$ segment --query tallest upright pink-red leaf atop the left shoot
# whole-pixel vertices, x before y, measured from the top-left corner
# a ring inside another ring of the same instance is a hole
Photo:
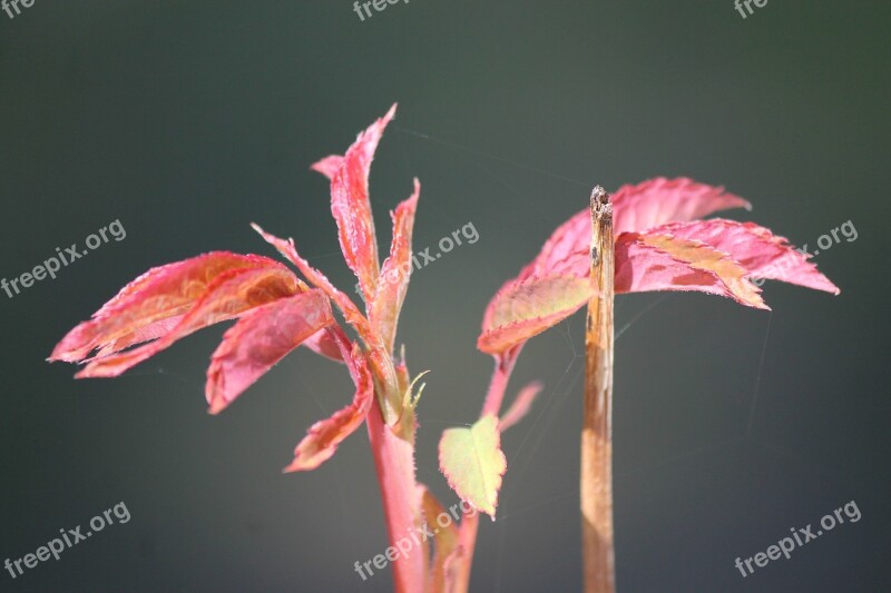
[[[359,278],[366,302],[374,296],[380,274],[378,239],[369,199],[369,174],[378,142],[393,119],[395,108],[394,105],[383,118],[359,135],[331,178],[331,214],[337,223],[341,250],[346,265]],[[322,168],[332,172],[330,162]]]

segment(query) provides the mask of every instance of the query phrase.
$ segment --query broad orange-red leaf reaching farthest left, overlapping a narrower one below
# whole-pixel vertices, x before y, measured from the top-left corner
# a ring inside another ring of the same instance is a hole
[[[100,356],[170,332],[223,275],[233,270],[275,269],[277,261],[227,251],[214,251],[151,268],[125,286],[111,300],[66,335],[50,360],[79,362],[100,348]],[[290,274],[290,273],[288,273]],[[302,284],[291,275],[294,289]]]

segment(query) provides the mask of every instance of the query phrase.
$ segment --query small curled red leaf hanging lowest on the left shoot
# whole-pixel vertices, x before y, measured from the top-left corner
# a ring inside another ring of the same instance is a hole
[[[294,461],[285,467],[285,472],[315,470],[331,458],[337,445],[362,425],[374,402],[374,382],[363,355],[353,355],[352,369],[356,385],[353,403],[310,427],[306,436],[294,449]]]

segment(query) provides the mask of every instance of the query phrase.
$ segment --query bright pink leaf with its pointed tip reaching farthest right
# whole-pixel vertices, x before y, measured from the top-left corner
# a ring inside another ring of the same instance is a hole
[[[839,287],[816,270],[807,257],[754,223],[714,218],[694,223],[673,223],[650,230],[681,239],[697,240],[728,254],[748,271],[751,278],[767,278],[815,290],[839,294]]]

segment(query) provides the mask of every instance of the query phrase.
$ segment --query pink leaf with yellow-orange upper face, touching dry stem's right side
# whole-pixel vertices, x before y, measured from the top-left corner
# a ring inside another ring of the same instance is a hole
[[[698,290],[767,309],[747,271],[727,254],[670,235],[626,233],[616,241],[616,293]]]

